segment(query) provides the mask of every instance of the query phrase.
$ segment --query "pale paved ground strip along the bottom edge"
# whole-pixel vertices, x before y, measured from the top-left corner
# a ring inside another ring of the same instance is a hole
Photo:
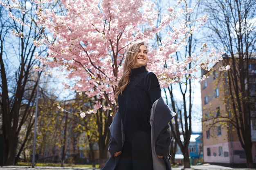
[[[2,166],[0,170],[100,170],[99,168],[80,168],[80,167],[35,167],[31,168],[31,166]],[[183,166],[178,168],[172,168],[172,170],[184,170]],[[256,169],[248,169],[248,168],[230,168],[226,166],[219,165],[211,165],[211,164],[203,164],[197,166],[191,166],[189,169],[185,170],[256,170]]]

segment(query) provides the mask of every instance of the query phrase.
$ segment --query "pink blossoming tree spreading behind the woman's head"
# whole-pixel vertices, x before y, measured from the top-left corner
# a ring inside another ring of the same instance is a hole
[[[55,0],[34,2],[39,7],[37,23],[50,33],[45,36],[45,41],[35,41],[37,45],[46,44],[49,47],[48,55],[36,57],[45,65],[65,70],[66,78],[74,79],[76,85],[70,87],[66,84],[66,88],[107,99],[107,109],[113,113],[116,112],[117,104],[114,92],[129,44],[135,40],[148,42],[155,33],[165,29],[174,20],[179,20],[182,13],[193,12],[192,9],[184,11],[179,8],[178,5],[182,2],[178,1],[176,7],[167,8],[168,13],[156,25],[158,13],[153,11],[154,4],[147,0],[77,0],[75,3],[63,0],[56,1],[59,6],[53,9],[43,7],[44,3],[54,3]],[[204,15],[195,22],[202,25],[206,20],[207,16]],[[164,46],[150,49],[148,68],[158,75],[162,87],[180,81],[186,73],[198,71],[200,68],[208,69],[208,64],[222,59],[222,53],[217,51],[211,51],[208,55],[193,54],[187,56],[183,62],[170,58],[170,54],[179,51],[186,43],[186,36],[190,36],[197,29],[197,26],[189,29],[189,24],[184,20],[180,21],[179,25],[173,26],[167,32],[162,42]],[[202,52],[205,51],[207,47],[203,46]],[[194,67],[187,70],[189,63],[193,63]],[[96,102],[94,109],[87,113],[96,113],[101,107],[101,103]],[[85,113],[81,116],[85,116]]]

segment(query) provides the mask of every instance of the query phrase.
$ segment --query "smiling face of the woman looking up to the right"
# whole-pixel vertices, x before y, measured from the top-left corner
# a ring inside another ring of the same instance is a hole
[[[138,52],[136,58],[137,58],[136,65],[133,66],[132,69],[139,68],[141,66],[146,66],[146,64],[148,62],[148,50],[145,45],[139,46],[139,52]]]

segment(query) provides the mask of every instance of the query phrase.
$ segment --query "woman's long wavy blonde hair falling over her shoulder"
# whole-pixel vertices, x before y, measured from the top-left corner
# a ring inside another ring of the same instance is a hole
[[[118,82],[115,97],[117,97],[119,93],[122,94],[126,86],[130,83],[129,76],[132,73],[132,68],[137,64],[137,54],[139,53],[139,47],[141,45],[145,45],[144,42],[138,41],[132,43],[128,48],[128,51],[126,53],[126,59],[124,62],[124,73]]]

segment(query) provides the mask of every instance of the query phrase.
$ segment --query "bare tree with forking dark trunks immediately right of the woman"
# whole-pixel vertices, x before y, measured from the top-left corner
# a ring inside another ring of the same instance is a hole
[[[200,14],[200,1],[196,3],[192,0],[186,0],[186,6],[183,9],[188,10],[189,8],[193,8],[193,13],[184,15],[184,20],[186,22],[192,21],[194,18],[198,17]],[[161,3],[160,3],[161,4]],[[159,20],[161,20],[161,9],[159,7]],[[189,25],[193,26],[193,25]],[[169,27],[171,30],[171,25]],[[156,44],[161,44],[162,36],[160,33],[156,35]],[[187,45],[184,46],[184,49],[176,53],[177,61],[182,61],[186,56],[191,56],[192,53],[199,52],[196,51],[198,48],[198,38],[196,35],[192,34],[187,38]],[[188,68],[191,68],[191,64],[189,64]],[[170,85],[168,88],[164,89],[166,93],[167,104],[169,104],[173,111],[177,113],[177,116],[174,117],[174,121],[170,122],[171,125],[171,135],[174,138],[175,143],[180,147],[183,155],[184,155],[184,168],[190,168],[189,161],[189,141],[192,132],[192,117],[193,117],[193,81],[189,78],[192,75],[185,75],[182,82]],[[180,96],[175,95],[175,92],[179,91]],[[180,136],[183,136],[184,141],[180,139]],[[173,155],[174,157],[175,155]]]

